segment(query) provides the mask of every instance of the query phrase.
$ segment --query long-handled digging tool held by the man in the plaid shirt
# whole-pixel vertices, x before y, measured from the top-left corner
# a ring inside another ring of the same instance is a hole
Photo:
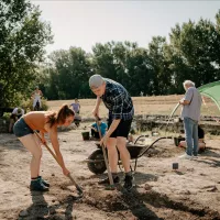
[[[96,124],[97,124],[97,128],[98,128],[99,138],[101,140],[102,136],[101,136],[101,131],[100,131],[100,128],[99,128],[99,118],[98,117],[96,117]],[[106,187],[106,189],[113,190],[116,187],[114,187],[113,178],[112,178],[112,175],[111,175],[111,172],[110,172],[110,168],[109,168],[109,162],[108,162],[107,152],[106,152],[106,147],[105,147],[103,143],[101,144],[101,148],[102,148],[103,158],[105,158],[105,163],[106,163],[106,167],[107,167],[107,172],[108,172],[108,177],[109,177],[109,182],[110,182],[110,185],[108,187]]]

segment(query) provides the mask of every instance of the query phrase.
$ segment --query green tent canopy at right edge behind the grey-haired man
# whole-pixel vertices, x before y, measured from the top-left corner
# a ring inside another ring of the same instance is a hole
[[[199,87],[198,90],[202,96],[212,99],[220,110],[220,81],[206,84]]]

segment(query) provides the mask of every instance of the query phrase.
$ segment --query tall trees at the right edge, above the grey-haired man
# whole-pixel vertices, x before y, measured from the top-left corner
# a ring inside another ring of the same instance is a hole
[[[172,29],[170,62],[174,72],[173,79],[177,91],[180,91],[183,80],[191,79],[200,86],[219,78],[220,34],[217,25],[200,19],[197,23],[189,20],[182,26]]]

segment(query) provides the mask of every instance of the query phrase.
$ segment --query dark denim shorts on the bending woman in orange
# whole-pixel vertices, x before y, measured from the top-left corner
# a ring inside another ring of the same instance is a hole
[[[13,127],[13,132],[15,136],[21,138],[25,136],[28,134],[33,134],[33,130],[26,124],[23,118],[19,119],[14,127]]]

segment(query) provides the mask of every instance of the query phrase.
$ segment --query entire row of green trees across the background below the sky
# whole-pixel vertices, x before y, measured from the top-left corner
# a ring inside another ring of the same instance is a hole
[[[45,58],[45,45],[53,41],[50,24],[40,20],[37,7],[25,0],[16,2],[0,2],[4,102],[30,96],[35,85],[50,100],[90,98],[88,79],[94,74],[121,82],[131,96],[183,94],[185,79],[201,86],[220,77],[220,11],[215,22],[200,19],[176,24],[168,40],[154,36],[146,47],[111,41],[97,43],[91,53],[72,46]]]

